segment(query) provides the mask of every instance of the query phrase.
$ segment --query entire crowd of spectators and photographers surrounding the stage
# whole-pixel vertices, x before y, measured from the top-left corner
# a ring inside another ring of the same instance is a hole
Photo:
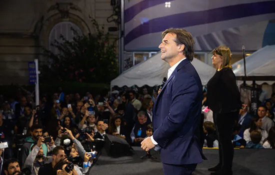
[[[206,89],[203,95],[202,145],[218,147]],[[0,140],[8,143],[0,149],[2,174],[16,174],[23,168],[31,174],[86,174],[101,152],[106,134],[125,139],[131,146],[140,146],[153,134],[156,96],[154,88],[145,86],[82,96],[59,89],[50,97],[41,96],[37,106],[27,90],[18,89],[14,97],[1,96]],[[275,93],[262,104],[256,116],[242,104],[233,128],[234,147],[275,148]]]

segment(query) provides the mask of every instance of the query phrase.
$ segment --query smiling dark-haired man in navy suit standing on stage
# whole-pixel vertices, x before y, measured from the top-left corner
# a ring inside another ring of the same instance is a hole
[[[169,28],[163,31],[158,47],[161,59],[171,68],[153,106],[154,133],[141,147],[146,151],[160,147],[164,175],[191,174],[205,159],[199,142],[202,85],[190,63],[194,41],[186,30]]]

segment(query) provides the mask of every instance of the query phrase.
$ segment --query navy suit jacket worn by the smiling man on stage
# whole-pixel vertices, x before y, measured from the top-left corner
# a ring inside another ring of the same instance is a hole
[[[201,80],[188,59],[182,60],[159,92],[153,107],[153,138],[167,164],[192,164],[205,158],[199,142]]]

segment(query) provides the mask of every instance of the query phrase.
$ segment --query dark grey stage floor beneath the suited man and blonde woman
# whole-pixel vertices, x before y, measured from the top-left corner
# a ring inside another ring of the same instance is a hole
[[[140,147],[133,147],[132,156],[112,158],[105,150],[97,162],[91,167],[92,175],[161,175],[161,162],[151,159],[140,159],[145,152]],[[194,175],[210,174],[208,167],[218,162],[218,149],[203,149],[208,158],[197,165]],[[158,152],[152,152],[159,160]],[[273,175],[275,174],[275,149],[235,149],[233,160],[233,174],[239,175]]]

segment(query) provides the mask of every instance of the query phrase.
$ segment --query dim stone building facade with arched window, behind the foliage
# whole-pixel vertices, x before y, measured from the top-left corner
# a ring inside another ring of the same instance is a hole
[[[43,47],[51,49],[50,42],[60,34],[72,38],[70,27],[93,33],[90,17],[107,31],[116,26],[106,20],[111,14],[110,0],[1,0],[0,84],[27,84],[28,62],[47,62]],[[111,32],[111,37],[117,36],[117,31]]]

